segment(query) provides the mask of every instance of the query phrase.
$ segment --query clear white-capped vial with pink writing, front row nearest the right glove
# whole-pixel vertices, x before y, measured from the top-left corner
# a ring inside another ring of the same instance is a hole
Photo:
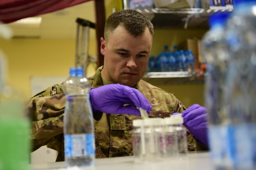
[[[177,156],[178,150],[178,138],[174,118],[167,117],[165,120],[165,158]]]

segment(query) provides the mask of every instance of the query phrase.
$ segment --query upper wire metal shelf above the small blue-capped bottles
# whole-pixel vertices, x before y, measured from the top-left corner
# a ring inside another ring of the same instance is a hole
[[[213,12],[232,9],[153,8],[136,9],[153,23],[154,28],[208,29],[208,17]]]

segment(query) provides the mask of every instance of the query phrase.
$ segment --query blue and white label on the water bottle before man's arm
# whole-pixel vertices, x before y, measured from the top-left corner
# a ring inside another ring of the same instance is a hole
[[[65,156],[80,157],[95,154],[94,133],[65,135]]]

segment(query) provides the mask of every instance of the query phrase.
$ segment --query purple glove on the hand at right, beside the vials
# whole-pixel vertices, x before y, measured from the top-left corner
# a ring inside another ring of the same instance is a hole
[[[183,125],[201,144],[208,145],[207,110],[205,107],[194,104],[182,113]]]

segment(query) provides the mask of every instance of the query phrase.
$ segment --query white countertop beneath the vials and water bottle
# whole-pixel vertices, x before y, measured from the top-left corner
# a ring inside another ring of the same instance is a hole
[[[64,162],[31,165],[31,170],[64,170]],[[72,168],[78,170],[79,168]],[[209,152],[190,152],[188,155],[163,159],[158,162],[134,163],[133,156],[101,158],[95,160],[94,167],[85,170],[214,170]]]

